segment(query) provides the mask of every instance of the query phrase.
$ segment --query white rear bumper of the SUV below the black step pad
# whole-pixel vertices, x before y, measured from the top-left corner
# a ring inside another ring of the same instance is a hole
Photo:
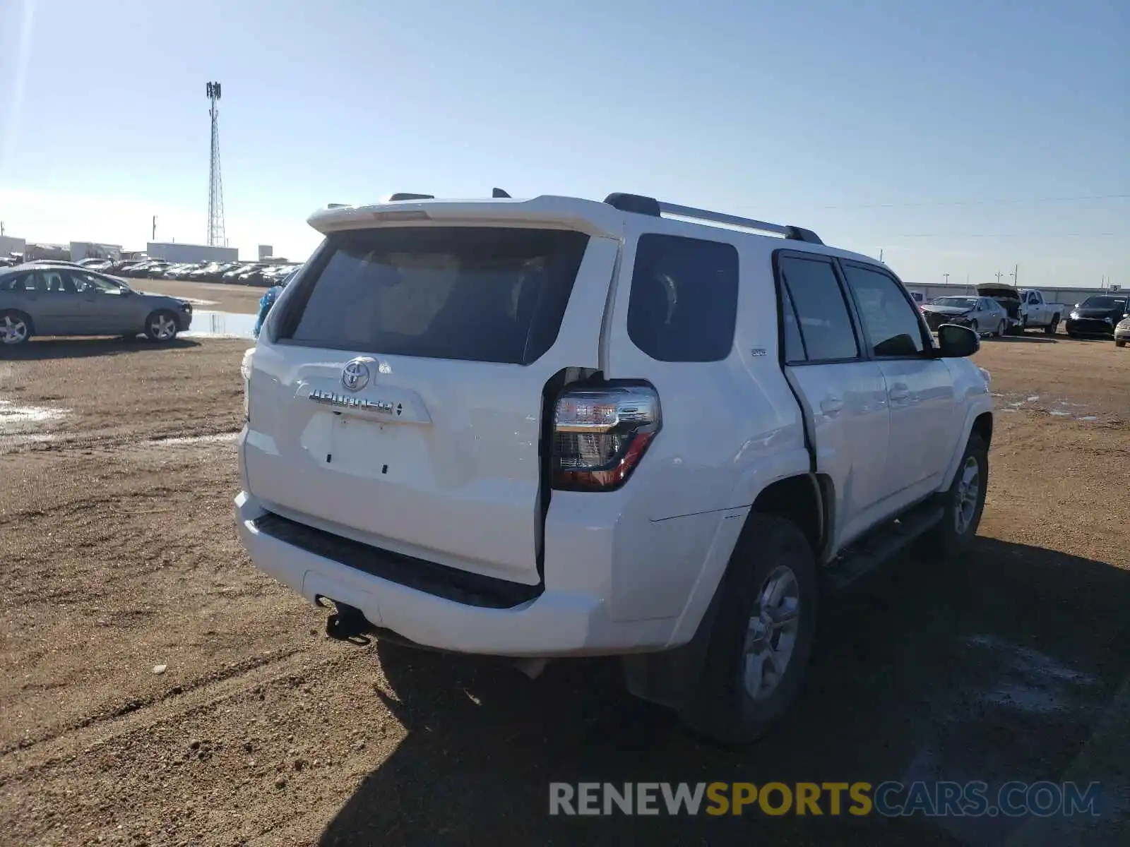
[[[235,498],[236,530],[257,568],[312,603],[316,597],[346,603],[374,627],[421,646],[501,656],[615,655],[662,649],[671,637],[671,619],[611,620],[597,591],[547,588],[508,609],[454,602],[269,534],[257,526],[267,514],[246,491]]]

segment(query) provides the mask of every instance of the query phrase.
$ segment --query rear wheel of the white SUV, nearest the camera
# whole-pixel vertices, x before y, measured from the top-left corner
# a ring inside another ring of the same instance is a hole
[[[812,549],[791,521],[754,513],[718,591],[702,678],[679,716],[715,741],[749,743],[800,695],[816,637]],[[783,673],[765,673],[782,661]]]

